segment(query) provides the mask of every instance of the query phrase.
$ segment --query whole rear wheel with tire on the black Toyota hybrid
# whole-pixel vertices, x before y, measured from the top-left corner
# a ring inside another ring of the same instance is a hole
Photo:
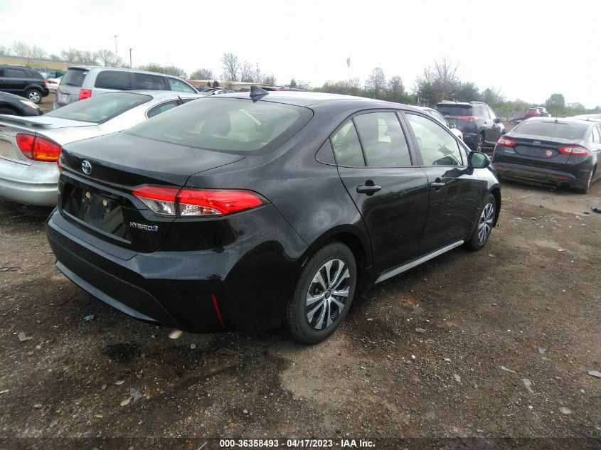
[[[345,277],[347,271],[349,276]],[[286,306],[286,329],[290,338],[315,344],[334,333],[351,307],[356,285],[357,266],[349,247],[332,242],[321,248],[305,264],[294,296]],[[346,296],[336,294],[345,291]],[[309,304],[310,296],[312,304]]]

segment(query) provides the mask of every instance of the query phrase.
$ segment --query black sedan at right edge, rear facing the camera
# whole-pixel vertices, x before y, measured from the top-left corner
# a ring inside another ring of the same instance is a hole
[[[600,151],[597,122],[532,117],[499,139],[493,166],[504,179],[568,185],[587,193],[601,175]]]

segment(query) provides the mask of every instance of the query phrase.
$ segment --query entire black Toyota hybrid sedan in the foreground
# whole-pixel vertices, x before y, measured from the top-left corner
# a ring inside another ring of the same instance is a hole
[[[329,336],[359,286],[496,225],[482,153],[419,109],[307,92],[216,95],[63,149],[46,225],[98,299],[191,332]]]

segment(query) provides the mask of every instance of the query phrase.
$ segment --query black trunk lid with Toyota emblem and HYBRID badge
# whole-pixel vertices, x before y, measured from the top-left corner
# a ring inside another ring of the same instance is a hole
[[[134,188],[151,185],[177,190],[195,173],[243,158],[125,133],[74,143],[63,149],[60,160],[59,208],[103,240],[154,252],[175,218],[151,213],[132,193]]]

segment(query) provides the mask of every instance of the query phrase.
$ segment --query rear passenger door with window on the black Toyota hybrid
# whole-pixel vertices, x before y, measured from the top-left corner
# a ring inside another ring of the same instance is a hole
[[[414,165],[394,111],[364,112],[331,136],[346,191],[366,223],[380,274],[419,254],[427,218],[427,176]]]

